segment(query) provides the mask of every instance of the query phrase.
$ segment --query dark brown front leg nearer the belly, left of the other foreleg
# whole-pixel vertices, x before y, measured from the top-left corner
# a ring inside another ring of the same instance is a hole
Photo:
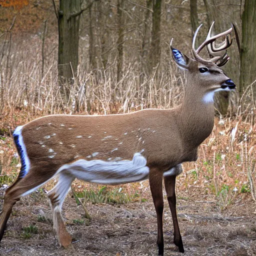
[[[149,170],[149,185],[153,197],[154,207],[157,216],[157,246],[158,255],[163,255],[163,233],[162,233],[162,172],[158,169]]]

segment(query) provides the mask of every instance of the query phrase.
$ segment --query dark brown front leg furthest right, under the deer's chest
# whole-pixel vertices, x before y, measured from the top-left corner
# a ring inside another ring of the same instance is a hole
[[[181,166],[173,167],[173,168],[181,168]],[[175,174],[170,176],[164,176],[164,185],[165,185],[165,190],[167,193],[167,199],[170,206],[170,211],[171,211],[171,216],[173,221],[173,228],[174,228],[173,242],[176,246],[178,246],[178,249],[180,252],[184,252],[182,238],[181,238],[179,227],[178,227],[177,212],[176,212],[175,179],[176,179]]]

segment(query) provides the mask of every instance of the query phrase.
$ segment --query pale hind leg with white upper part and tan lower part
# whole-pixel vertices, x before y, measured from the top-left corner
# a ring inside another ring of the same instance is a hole
[[[52,210],[53,229],[56,232],[58,243],[65,248],[71,244],[72,237],[66,230],[61,215],[61,206],[74,178],[68,173],[60,172],[57,184],[48,193]]]

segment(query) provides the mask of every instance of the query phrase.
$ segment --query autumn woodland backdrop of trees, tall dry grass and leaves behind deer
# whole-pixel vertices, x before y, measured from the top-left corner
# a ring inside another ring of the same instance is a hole
[[[199,43],[212,20],[216,33],[231,23],[237,28],[239,39],[236,35],[223,68],[237,89],[215,96],[213,132],[198,160],[183,164],[176,190],[181,202],[203,197],[219,214],[254,216],[254,0],[0,0],[0,185],[10,184],[20,166],[10,136],[17,125],[46,114],[126,113],[180,104],[185,77],[171,59],[169,41],[191,55],[196,27],[203,24]],[[146,182],[120,190],[75,181],[73,188],[87,203],[141,204],[150,201]],[[230,244],[231,252],[239,249],[235,240]]]

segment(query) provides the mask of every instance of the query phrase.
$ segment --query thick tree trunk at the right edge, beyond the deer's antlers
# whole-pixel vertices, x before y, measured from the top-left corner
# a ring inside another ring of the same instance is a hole
[[[255,80],[256,70],[256,4],[245,0],[242,13],[239,96]]]

